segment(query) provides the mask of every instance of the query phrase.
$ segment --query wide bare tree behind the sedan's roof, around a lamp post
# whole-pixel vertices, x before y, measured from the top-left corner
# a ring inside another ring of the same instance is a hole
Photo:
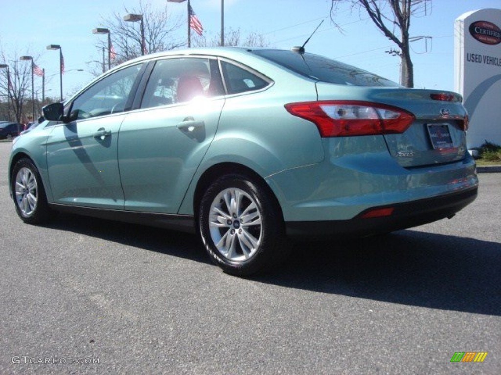
[[[183,22],[180,18],[172,19],[166,4],[167,2],[163,8],[154,8],[149,3],[144,5],[139,2],[138,8],[124,6],[123,11],[116,11],[109,17],[102,17],[102,25],[110,30],[112,45],[116,53],[116,57],[112,60],[113,66],[142,54],[139,22],[127,22],[123,19],[124,15],[129,13],[143,16],[146,53],[170,50],[184,45],[185,42],[179,40],[175,34]],[[102,51],[102,48],[107,50],[107,39],[101,38],[96,46],[99,51]],[[108,53],[105,55],[107,60]],[[96,62],[90,61],[90,63],[95,63],[95,73],[99,74],[102,66]]]

